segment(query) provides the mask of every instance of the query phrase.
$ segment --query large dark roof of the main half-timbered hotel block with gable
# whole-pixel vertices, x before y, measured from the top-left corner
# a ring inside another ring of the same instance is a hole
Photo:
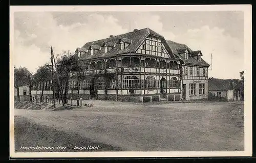
[[[80,60],[90,60],[90,59],[97,59],[97,58],[111,58],[111,57],[116,57],[118,55],[125,54],[125,53],[133,53],[138,49],[138,47],[141,45],[143,40],[148,35],[154,35],[154,36],[158,37],[159,39],[161,39],[162,43],[164,44],[167,51],[169,52],[170,57],[180,60],[179,58],[177,58],[177,56],[173,55],[173,53],[172,53],[171,49],[169,48],[167,42],[165,41],[164,37],[148,28],[121,34],[121,35],[117,35],[117,36],[113,36],[113,37],[109,37],[109,38],[105,38],[105,39],[101,39],[101,40],[97,40],[97,41],[88,42],[82,46],[83,49],[89,49],[91,45],[102,46],[105,42],[109,42],[110,44],[112,44],[113,48],[112,48],[112,50],[110,50],[109,52],[106,52],[106,53],[104,53],[104,49],[101,48],[95,55],[91,55],[90,51],[88,51],[80,57]],[[130,42],[130,45],[127,46],[127,48],[121,50],[120,46],[118,46],[118,42],[120,40],[123,40],[125,42]]]

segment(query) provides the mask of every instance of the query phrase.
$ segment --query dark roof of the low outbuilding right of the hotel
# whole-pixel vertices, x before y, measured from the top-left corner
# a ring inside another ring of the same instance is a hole
[[[231,79],[209,78],[209,91],[232,90]]]

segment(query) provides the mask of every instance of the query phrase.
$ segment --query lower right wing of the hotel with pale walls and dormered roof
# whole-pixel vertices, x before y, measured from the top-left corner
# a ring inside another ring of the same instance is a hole
[[[208,100],[208,67],[201,50],[193,51],[185,44],[167,41],[182,64],[182,100]]]

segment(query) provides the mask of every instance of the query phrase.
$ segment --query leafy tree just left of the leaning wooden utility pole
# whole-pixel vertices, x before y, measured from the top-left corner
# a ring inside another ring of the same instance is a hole
[[[51,80],[52,76],[51,76],[51,67],[49,64],[45,64],[44,66],[40,66],[35,75],[34,75],[34,79],[36,82],[41,83],[42,87],[41,87],[41,97],[40,97],[40,101],[43,101],[43,97],[44,97],[44,87],[45,84]]]

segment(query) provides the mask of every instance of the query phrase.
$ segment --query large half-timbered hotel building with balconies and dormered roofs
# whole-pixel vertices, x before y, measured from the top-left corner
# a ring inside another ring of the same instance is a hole
[[[81,80],[76,72],[70,73],[67,98],[137,102],[207,98],[209,65],[201,59],[201,51],[184,46],[148,28],[88,42],[73,55],[86,77]],[[51,82],[44,86],[49,89]]]

